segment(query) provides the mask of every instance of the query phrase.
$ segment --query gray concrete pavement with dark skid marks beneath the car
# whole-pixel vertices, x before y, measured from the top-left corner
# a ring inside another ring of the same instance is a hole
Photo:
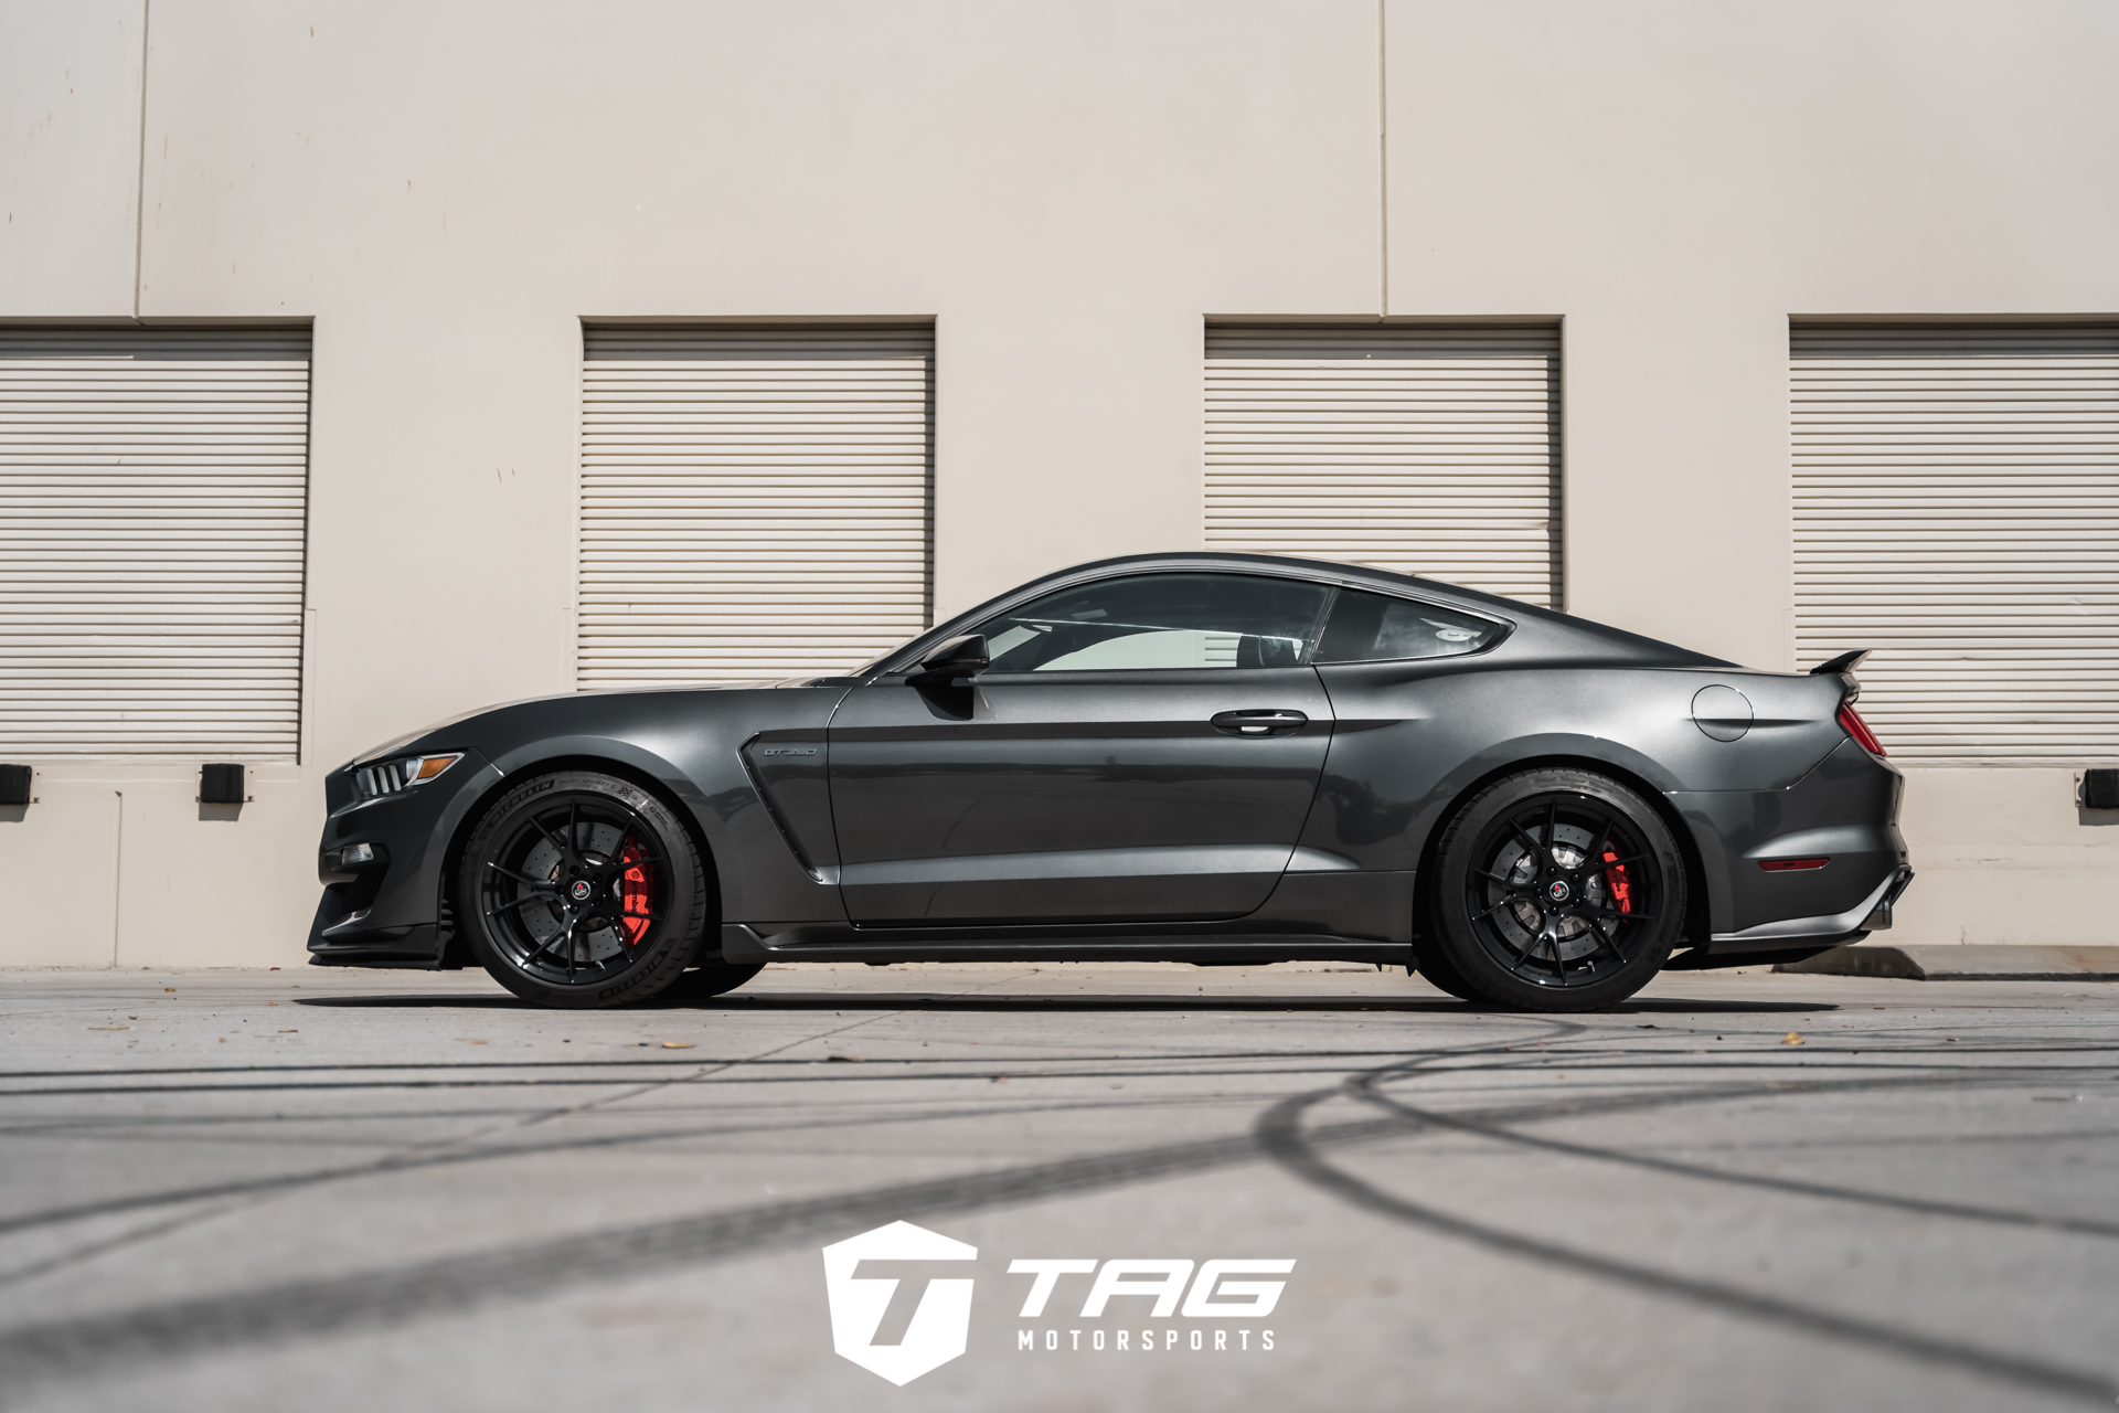
[[[1568,1019],[1320,966],[773,968],[606,1013],[477,972],[0,996],[11,1409],[2119,1394],[2113,983],[1695,972]],[[896,1220],[977,1248],[964,1354],[903,1388],[833,1352],[820,1258]],[[1087,1267],[1028,1316],[1009,1265],[1053,1258]],[[1295,1267],[1265,1316],[1085,1313],[1123,1258]]]

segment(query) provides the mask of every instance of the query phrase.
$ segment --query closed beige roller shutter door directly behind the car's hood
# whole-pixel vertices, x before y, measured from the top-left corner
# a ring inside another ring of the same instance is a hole
[[[928,328],[589,328],[578,684],[845,672],[928,625]]]

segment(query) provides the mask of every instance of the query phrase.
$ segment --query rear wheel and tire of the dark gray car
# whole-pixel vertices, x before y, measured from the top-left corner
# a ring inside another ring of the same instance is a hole
[[[1449,820],[1435,869],[1428,979],[1511,1010],[1613,1006],[1649,985],[1685,928],[1676,837],[1638,792],[1591,771],[1496,780]]]

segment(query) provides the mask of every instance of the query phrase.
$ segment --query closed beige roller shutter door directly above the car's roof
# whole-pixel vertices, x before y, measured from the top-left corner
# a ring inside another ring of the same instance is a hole
[[[1560,330],[1208,328],[1208,549],[1560,606]]]

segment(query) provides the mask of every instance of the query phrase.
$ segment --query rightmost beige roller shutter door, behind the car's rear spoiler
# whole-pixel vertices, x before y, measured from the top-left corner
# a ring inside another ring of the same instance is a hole
[[[1894,758],[2119,756],[2119,330],[1793,330],[1797,659]]]

